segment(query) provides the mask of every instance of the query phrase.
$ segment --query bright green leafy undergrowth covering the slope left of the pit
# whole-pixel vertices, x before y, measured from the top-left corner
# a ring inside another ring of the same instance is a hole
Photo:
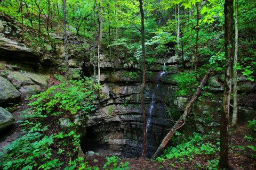
[[[30,108],[20,121],[26,134],[3,148],[0,169],[99,169],[76,158],[81,121],[94,110],[95,98],[100,95],[101,87],[95,84],[90,90],[91,83],[89,78],[70,80],[31,97]],[[63,119],[68,126],[61,126]],[[106,167],[114,167],[118,161],[108,161]],[[117,169],[127,167],[126,163]]]

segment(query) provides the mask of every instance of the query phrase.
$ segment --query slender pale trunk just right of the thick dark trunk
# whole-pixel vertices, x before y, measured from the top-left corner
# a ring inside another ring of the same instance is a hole
[[[238,0],[235,2],[235,11],[236,11],[236,21],[235,21],[235,57],[234,57],[234,65],[237,66],[237,52],[238,52]],[[233,116],[231,126],[235,126],[237,124],[237,69],[234,71],[234,103],[233,103]]]

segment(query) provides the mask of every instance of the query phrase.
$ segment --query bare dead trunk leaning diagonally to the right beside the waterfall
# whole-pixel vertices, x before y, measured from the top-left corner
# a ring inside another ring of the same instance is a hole
[[[211,67],[210,69],[206,72],[206,74],[204,75],[203,80],[201,81],[200,85],[198,86],[194,96],[191,98],[191,100],[189,101],[189,103],[187,104],[185,111],[183,112],[183,114],[180,116],[179,120],[174,124],[174,126],[172,127],[172,129],[167,133],[167,135],[164,137],[162,143],[159,145],[159,147],[157,148],[155,154],[151,157],[151,159],[155,159],[165,148],[165,146],[167,145],[167,143],[169,142],[169,140],[172,138],[173,134],[179,129],[181,128],[181,126],[183,126],[185,124],[185,120],[187,115],[189,114],[194,102],[197,100],[198,96],[201,94],[202,88],[204,87],[205,83],[207,82],[207,80],[209,79],[210,73],[211,73]]]

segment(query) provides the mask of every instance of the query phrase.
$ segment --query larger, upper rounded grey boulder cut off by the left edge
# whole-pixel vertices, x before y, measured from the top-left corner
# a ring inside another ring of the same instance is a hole
[[[20,98],[20,92],[13,86],[13,84],[0,77],[0,104],[4,102],[13,102]]]

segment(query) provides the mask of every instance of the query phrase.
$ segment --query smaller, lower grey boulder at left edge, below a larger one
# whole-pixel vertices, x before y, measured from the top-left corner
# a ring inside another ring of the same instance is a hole
[[[14,116],[4,108],[0,107],[0,130],[10,126],[14,121]]]

